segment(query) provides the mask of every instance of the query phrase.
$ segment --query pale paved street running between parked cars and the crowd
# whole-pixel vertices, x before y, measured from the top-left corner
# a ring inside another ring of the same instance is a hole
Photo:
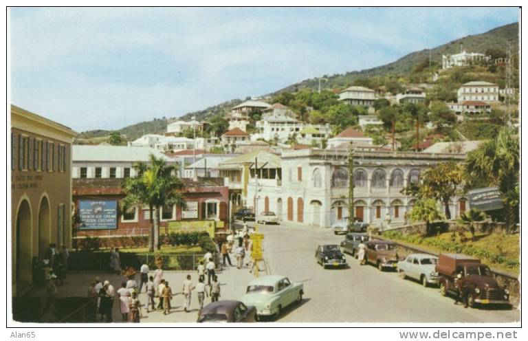
[[[330,229],[267,225],[265,256],[272,274],[305,285],[303,304],[285,311],[280,322],[515,322],[516,310],[464,309],[437,288],[402,280],[396,272],[360,266],[347,255],[349,268],[323,270],[314,259],[318,243],[340,243]]]

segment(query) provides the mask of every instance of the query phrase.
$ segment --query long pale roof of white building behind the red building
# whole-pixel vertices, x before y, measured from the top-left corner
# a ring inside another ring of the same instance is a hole
[[[72,148],[72,161],[81,162],[148,162],[153,154],[158,159],[161,157],[170,161],[164,153],[151,147],[144,146],[83,146],[74,144]]]

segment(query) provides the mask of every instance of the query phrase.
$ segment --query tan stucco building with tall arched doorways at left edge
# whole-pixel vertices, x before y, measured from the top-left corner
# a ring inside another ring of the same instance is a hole
[[[50,243],[69,247],[72,140],[67,126],[11,105],[12,295],[33,282],[32,265]]]

